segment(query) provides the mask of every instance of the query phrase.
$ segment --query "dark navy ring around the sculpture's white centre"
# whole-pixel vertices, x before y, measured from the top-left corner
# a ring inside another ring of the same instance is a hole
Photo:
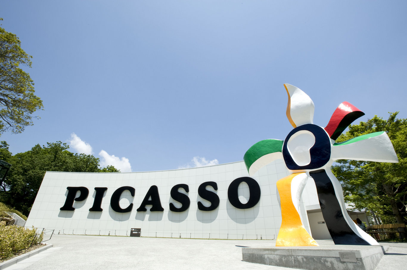
[[[304,166],[300,166],[295,163],[287,148],[287,142],[291,138],[291,136],[302,130],[311,132],[315,137],[315,144],[309,149],[311,162]],[[331,145],[329,136],[328,134],[326,134],[325,130],[322,127],[314,124],[300,125],[299,127],[295,127],[293,130],[291,130],[291,132],[287,135],[287,138],[285,138],[284,145],[282,147],[282,156],[287,168],[289,168],[290,170],[317,169],[321,168],[329,161],[330,146]]]

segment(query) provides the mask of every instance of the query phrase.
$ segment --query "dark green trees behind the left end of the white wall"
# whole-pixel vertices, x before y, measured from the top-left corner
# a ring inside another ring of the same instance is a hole
[[[46,171],[120,172],[114,166],[99,168],[98,158],[93,155],[74,154],[68,149],[66,143],[57,141],[42,147],[35,145],[30,151],[12,156],[7,143],[1,142],[0,156],[11,164],[11,168],[3,186],[0,187],[0,201],[28,216]]]

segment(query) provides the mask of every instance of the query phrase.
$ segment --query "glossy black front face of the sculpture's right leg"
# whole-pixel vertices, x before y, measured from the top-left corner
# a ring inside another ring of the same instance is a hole
[[[349,227],[335,195],[335,190],[325,170],[311,171],[309,175],[314,179],[317,187],[319,205],[328,227],[328,231],[336,245],[370,245],[359,237]]]

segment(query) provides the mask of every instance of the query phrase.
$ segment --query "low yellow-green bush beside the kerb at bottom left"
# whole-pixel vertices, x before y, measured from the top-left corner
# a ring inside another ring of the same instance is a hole
[[[7,259],[18,251],[29,248],[31,243],[41,243],[42,237],[43,233],[37,235],[34,227],[28,229],[16,225],[0,226],[0,259]]]

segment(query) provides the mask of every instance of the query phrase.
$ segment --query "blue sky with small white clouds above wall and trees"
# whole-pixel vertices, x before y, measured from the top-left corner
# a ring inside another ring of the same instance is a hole
[[[284,83],[313,99],[322,127],[344,101],[365,112],[355,123],[406,118],[406,12],[406,1],[3,0],[44,110],[0,140],[13,154],[61,140],[122,171],[239,161],[292,129]]]

